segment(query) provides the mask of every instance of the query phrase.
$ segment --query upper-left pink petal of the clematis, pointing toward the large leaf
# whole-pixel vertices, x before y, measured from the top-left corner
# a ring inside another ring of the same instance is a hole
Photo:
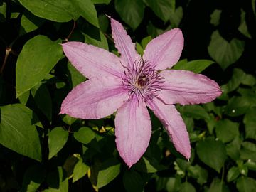
[[[119,58],[105,49],[75,41],[62,46],[67,58],[86,78],[123,74]]]

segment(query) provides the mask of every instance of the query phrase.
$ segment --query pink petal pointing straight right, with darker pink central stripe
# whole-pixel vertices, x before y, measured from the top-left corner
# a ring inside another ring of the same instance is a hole
[[[205,103],[221,95],[217,82],[205,75],[187,70],[164,70],[160,74],[164,77],[164,85],[158,97],[167,104]]]

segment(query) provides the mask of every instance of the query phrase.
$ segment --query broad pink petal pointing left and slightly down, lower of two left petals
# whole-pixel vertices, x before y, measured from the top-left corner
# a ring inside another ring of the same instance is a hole
[[[100,119],[115,112],[128,97],[119,78],[92,78],[82,82],[65,97],[60,114],[80,119]]]

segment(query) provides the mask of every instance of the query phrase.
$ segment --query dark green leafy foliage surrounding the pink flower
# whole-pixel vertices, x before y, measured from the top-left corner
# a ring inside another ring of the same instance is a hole
[[[1,0],[0,191],[255,191],[255,12],[255,0]],[[106,15],[124,24],[139,53],[181,28],[174,68],[221,85],[214,102],[176,106],[193,147],[189,162],[153,114],[149,148],[129,170],[115,147],[114,115],[58,114],[85,80],[59,43],[117,53]]]

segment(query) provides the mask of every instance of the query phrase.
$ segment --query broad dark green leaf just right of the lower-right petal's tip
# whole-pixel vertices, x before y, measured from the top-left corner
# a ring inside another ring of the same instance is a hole
[[[220,169],[227,159],[225,145],[222,142],[207,138],[196,144],[196,152],[203,163],[220,173]]]

